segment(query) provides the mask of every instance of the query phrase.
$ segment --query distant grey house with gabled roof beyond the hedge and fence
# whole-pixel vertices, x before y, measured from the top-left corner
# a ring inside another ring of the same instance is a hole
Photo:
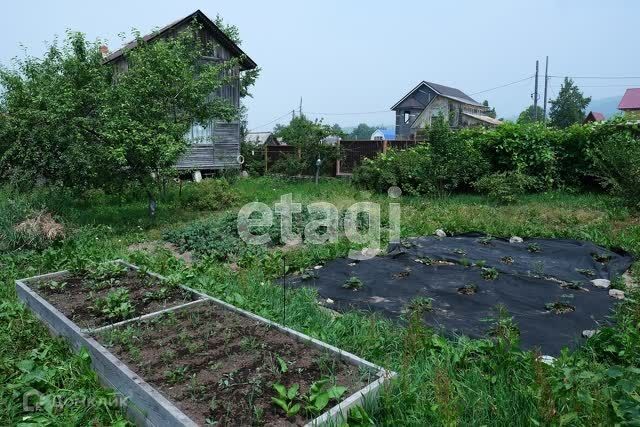
[[[422,81],[393,107],[396,112],[396,139],[415,139],[435,117],[444,117],[452,128],[497,126],[502,122],[489,117],[489,107],[449,86]]]

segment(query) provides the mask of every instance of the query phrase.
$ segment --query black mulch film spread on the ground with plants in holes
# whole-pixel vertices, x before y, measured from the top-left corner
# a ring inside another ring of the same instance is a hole
[[[524,349],[557,355],[563,347],[579,344],[583,330],[610,320],[616,300],[591,280],[614,281],[632,261],[622,251],[590,242],[510,243],[467,233],[408,239],[391,245],[385,256],[336,259],[287,282],[316,288],[322,298],[334,301],[329,307],[337,311],[372,310],[392,319],[405,319],[407,304],[415,298],[431,298],[431,311],[424,314],[428,325],[473,338],[488,336],[502,305],[518,325]],[[354,277],[362,287],[343,287]],[[549,309],[554,303],[562,303],[555,306],[559,310]]]

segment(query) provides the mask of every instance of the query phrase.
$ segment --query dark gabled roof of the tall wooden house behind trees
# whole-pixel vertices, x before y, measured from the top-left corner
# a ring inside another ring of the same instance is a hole
[[[202,25],[204,25],[204,27],[206,29],[208,29],[209,31],[211,31],[214,36],[215,39],[218,43],[220,43],[220,45],[222,47],[224,47],[225,49],[227,49],[232,56],[234,57],[239,57],[241,58],[240,60],[240,65],[242,67],[243,70],[251,70],[256,68],[258,65],[247,56],[246,53],[244,53],[242,51],[242,49],[240,49],[240,46],[238,46],[237,44],[235,44],[233,42],[233,40],[231,40],[220,28],[218,28],[216,26],[216,24],[213,23],[213,21],[211,19],[209,19],[209,17],[207,15],[205,15],[200,9],[196,10],[195,12],[193,12],[190,15],[185,16],[182,19],[179,19],[177,21],[172,22],[171,24],[157,30],[154,31],[150,34],[147,34],[146,36],[143,36],[142,39],[146,42],[152,41],[154,39],[156,39],[157,37],[161,37],[164,34],[170,32],[173,28],[178,27],[184,23],[188,23],[191,22],[193,20],[197,20],[199,23],[201,23]],[[138,42],[136,40],[130,41],[129,43],[127,43],[125,46],[123,46],[122,48],[116,50],[115,52],[112,52],[111,54],[109,54],[106,58],[105,58],[105,63],[110,63],[118,58],[120,58],[122,55],[124,55],[127,51],[133,49],[134,47],[136,47],[138,44]]]

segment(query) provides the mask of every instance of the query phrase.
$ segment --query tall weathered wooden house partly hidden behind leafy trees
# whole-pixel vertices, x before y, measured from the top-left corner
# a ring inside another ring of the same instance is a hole
[[[186,30],[194,20],[202,26],[199,36],[203,41],[213,46],[209,55],[203,57],[202,60],[224,62],[231,58],[239,58],[239,65],[233,70],[234,75],[238,76],[242,71],[257,67],[257,64],[200,10],[196,10],[184,18],[144,36],[143,39],[151,42],[156,39],[173,37]],[[105,64],[114,66],[118,71],[126,72],[129,65],[125,53],[135,48],[136,44],[136,41],[132,41],[115,52],[107,53],[104,60]],[[239,108],[240,79],[238,78],[233,83],[225,85],[212,95],[223,97],[236,108]],[[191,144],[185,155],[176,164],[178,170],[213,171],[240,167],[239,121],[194,123],[186,138]]]

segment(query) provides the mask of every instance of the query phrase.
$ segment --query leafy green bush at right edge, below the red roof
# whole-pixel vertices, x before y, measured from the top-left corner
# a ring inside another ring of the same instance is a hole
[[[607,124],[596,131],[588,151],[603,186],[640,209],[640,138],[636,127]],[[616,131],[610,131],[610,128]]]

